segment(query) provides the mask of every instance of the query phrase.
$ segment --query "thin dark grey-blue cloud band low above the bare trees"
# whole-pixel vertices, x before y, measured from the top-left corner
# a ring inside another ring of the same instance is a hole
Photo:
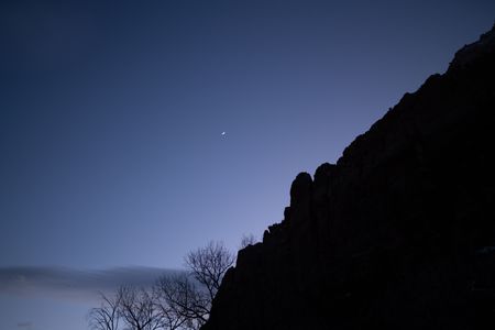
[[[102,271],[78,271],[63,267],[0,268],[0,295],[43,296],[92,300],[99,293],[117,290],[120,285],[150,287],[165,274],[177,270],[118,267]]]

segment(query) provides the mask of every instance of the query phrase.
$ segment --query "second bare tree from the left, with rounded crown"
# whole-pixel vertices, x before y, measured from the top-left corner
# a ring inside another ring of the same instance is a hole
[[[156,308],[153,295],[144,288],[121,286],[119,314],[133,330],[156,330],[162,326],[162,316]]]

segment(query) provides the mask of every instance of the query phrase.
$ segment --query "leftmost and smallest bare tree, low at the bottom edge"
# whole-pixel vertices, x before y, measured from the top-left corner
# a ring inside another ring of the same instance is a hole
[[[89,311],[89,327],[94,330],[118,330],[120,296],[107,297],[100,293],[101,306]]]

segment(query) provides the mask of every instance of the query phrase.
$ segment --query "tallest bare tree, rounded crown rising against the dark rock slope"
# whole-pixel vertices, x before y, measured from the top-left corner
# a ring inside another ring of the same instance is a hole
[[[186,255],[186,265],[191,275],[206,287],[211,302],[222,283],[223,275],[235,261],[222,242],[209,242]]]

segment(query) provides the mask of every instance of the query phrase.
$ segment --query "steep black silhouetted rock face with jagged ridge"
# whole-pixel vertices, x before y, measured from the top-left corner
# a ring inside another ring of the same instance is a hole
[[[204,330],[495,326],[495,29],[239,251]]]

